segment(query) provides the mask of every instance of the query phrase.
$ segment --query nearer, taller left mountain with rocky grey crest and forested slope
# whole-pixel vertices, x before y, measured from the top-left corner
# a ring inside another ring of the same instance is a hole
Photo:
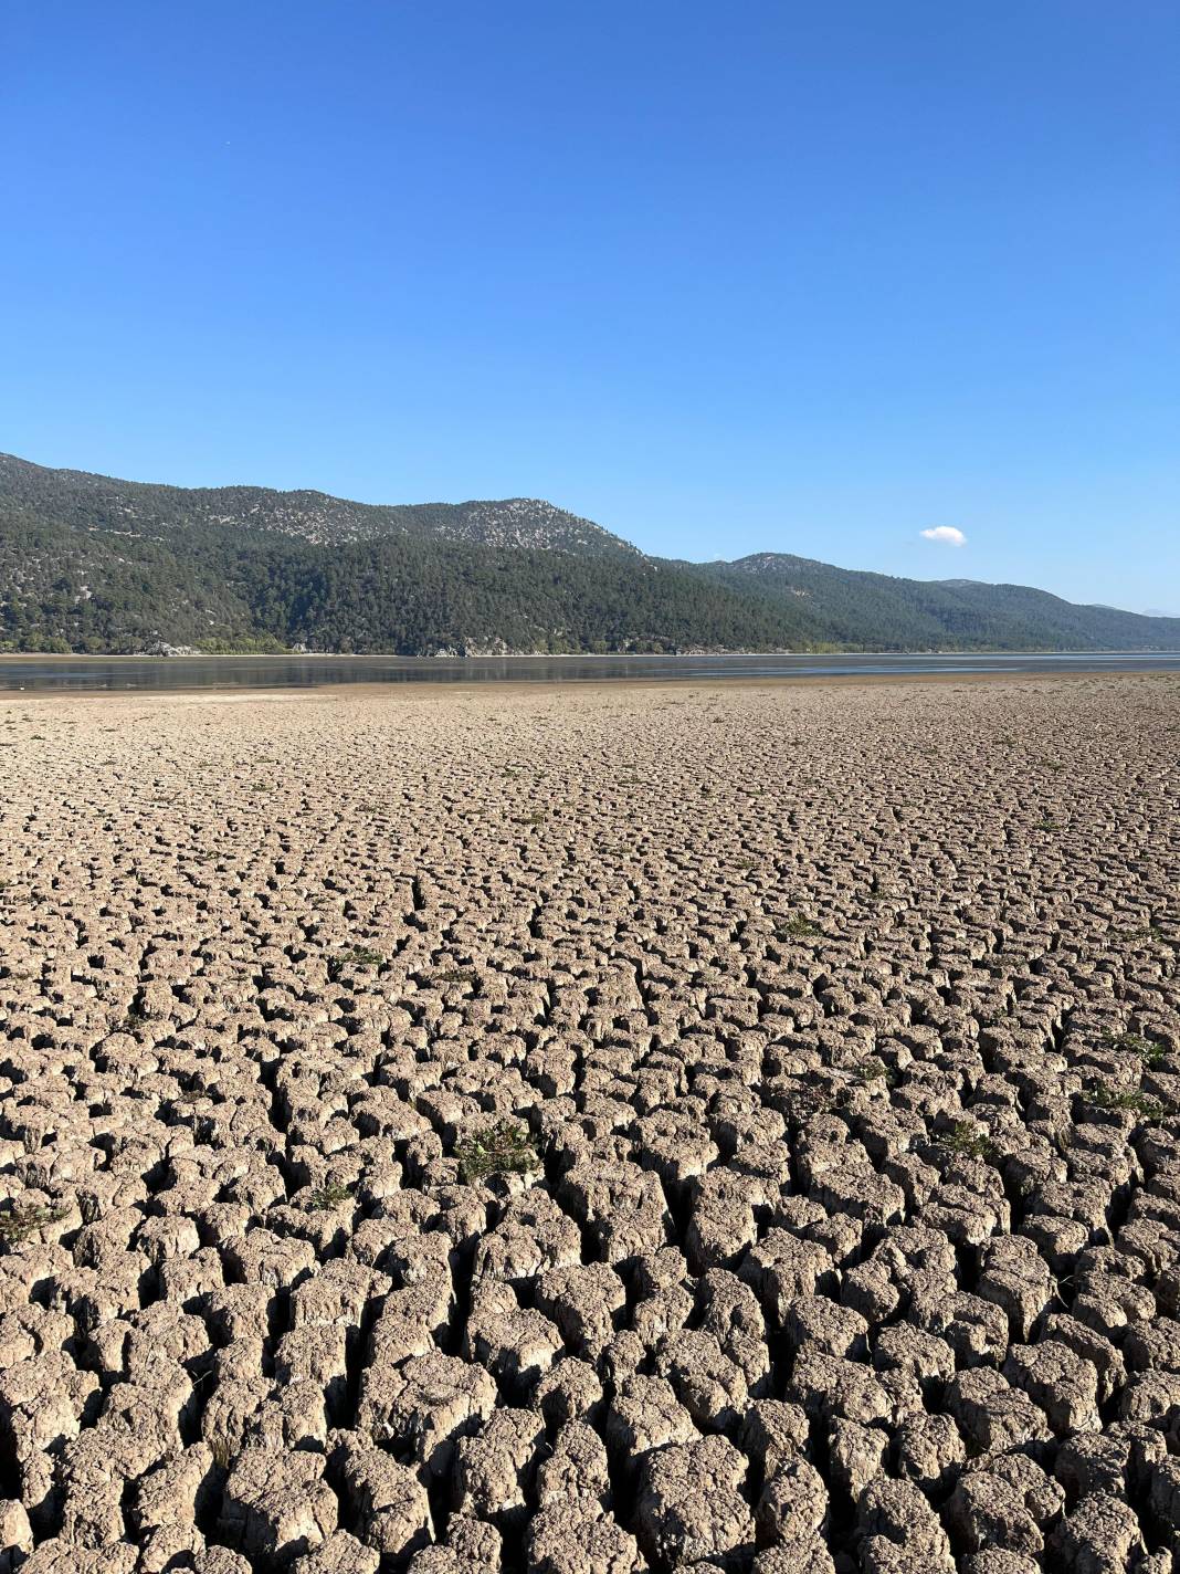
[[[0,648],[779,648],[773,606],[548,502],[379,508],[0,458]]]

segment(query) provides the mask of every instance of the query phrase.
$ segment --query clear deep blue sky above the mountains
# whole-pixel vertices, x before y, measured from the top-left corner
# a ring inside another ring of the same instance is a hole
[[[1175,0],[5,0],[0,137],[0,449],[1180,612]]]

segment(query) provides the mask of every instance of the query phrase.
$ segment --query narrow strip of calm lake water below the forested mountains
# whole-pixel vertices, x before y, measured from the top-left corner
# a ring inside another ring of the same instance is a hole
[[[334,683],[653,683],[930,672],[1177,672],[1180,652],[840,656],[0,656],[3,689],[241,689]]]

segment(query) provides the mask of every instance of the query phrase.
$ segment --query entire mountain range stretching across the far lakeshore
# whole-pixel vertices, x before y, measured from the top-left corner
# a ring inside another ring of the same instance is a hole
[[[1177,650],[1180,619],[784,552],[648,557],[535,497],[376,507],[0,455],[0,650]]]

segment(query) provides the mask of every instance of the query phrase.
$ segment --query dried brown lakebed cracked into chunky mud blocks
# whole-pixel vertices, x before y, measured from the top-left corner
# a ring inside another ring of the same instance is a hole
[[[0,745],[0,1568],[1180,1566],[1180,678]]]

